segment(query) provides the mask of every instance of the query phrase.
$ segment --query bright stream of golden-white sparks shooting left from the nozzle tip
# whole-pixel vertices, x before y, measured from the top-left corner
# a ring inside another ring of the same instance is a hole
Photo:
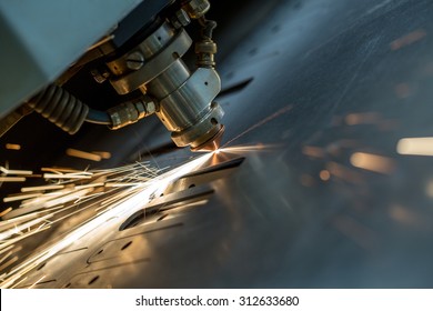
[[[94,211],[94,208],[99,207],[98,209],[102,211],[90,217],[85,222],[74,224],[63,237],[51,241],[50,244],[41,248],[40,252],[32,254],[18,265],[12,267],[4,275],[0,288],[17,285],[17,282],[26,273],[32,271],[32,269],[36,269],[36,267],[46,262],[90,231],[105,224],[112,219],[125,217],[131,212],[142,209],[143,205],[145,207],[154,198],[155,193],[163,192],[174,180],[200,168],[211,157],[211,153],[203,154],[164,172],[150,168],[144,163],[134,163],[122,168],[94,170],[88,174],[82,174],[82,172],[62,174],[70,177],[69,180],[64,180],[64,183],[70,183],[70,185],[64,187],[61,191],[42,193],[39,198],[26,202],[19,210],[28,208],[24,212],[29,212],[29,214],[16,214],[14,218],[0,222],[0,230],[3,228],[0,231],[2,241],[0,250],[11,248],[17,242],[48,230],[53,223],[63,221],[83,210],[93,209]],[[53,179],[57,179],[59,173],[53,173]],[[77,177],[83,175],[89,177],[89,179],[75,179]],[[108,182],[105,181],[120,183],[122,187],[107,188]],[[83,184],[75,184],[77,182]],[[39,188],[39,190],[43,188]],[[46,190],[57,189],[46,188]],[[94,198],[99,199],[94,200]],[[89,203],[83,204],[84,202]],[[79,204],[82,204],[82,207],[78,208]],[[69,209],[72,209],[72,212],[67,212]],[[49,213],[47,214],[47,212]]]

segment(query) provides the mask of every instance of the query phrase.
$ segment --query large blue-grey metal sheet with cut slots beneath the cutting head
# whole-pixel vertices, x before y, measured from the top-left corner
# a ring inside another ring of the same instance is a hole
[[[433,158],[396,151],[402,138],[433,136],[433,2],[300,0],[261,11],[263,2],[219,33],[228,91],[215,157],[243,163],[204,181],[214,190],[205,205],[123,231],[127,217],[114,219],[28,284],[48,275],[37,287],[433,285]],[[115,133],[90,127],[66,143],[89,142],[113,153],[107,167],[192,156],[149,157],[169,142],[151,121]]]

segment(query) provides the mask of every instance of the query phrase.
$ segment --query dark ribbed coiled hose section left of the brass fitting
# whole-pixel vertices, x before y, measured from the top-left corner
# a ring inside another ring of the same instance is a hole
[[[89,112],[87,104],[54,84],[33,97],[28,104],[70,134],[81,128]]]

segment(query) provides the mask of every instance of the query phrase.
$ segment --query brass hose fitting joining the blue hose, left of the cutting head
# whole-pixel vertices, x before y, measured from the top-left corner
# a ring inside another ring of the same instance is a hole
[[[112,124],[111,130],[118,130],[125,126],[153,114],[158,110],[158,104],[150,97],[142,97],[137,102],[125,102],[108,110]]]

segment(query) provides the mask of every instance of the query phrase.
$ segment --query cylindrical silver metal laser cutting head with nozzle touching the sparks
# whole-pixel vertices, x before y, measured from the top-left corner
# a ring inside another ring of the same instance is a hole
[[[207,20],[197,6],[184,8],[189,18],[201,27],[195,42],[197,69],[191,72],[182,60],[192,44],[183,27],[163,21],[148,38],[130,52],[107,63],[110,82],[119,94],[140,90],[158,103],[155,113],[178,147],[189,146],[192,151],[212,151],[221,142],[224,127],[223,111],[214,102],[221,91],[221,80],[214,69],[216,44],[212,31],[216,23]],[[195,8],[195,9],[194,9]]]

